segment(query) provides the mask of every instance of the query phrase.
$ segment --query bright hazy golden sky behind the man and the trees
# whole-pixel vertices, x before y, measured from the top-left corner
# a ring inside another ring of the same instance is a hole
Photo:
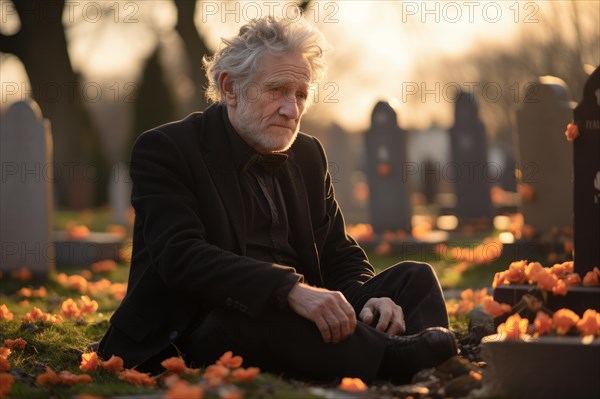
[[[127,82],[139,79],[143,62],[157,42],[167,50],[166,62],[178,58],[181,43],[173,35],[176,10],[171,1],[67,4],[63,23],[71,61],[88,81],[114,81],[125,88]],[[18,29],[8,7],[7,1],[0,1],[0,31],[5,34]],[[335,121],[349,131],[363,131],[373,106],[384,99],[396,108],[401,124],[448,124],[447,104],[425,113],[411,112],[409,96],[435,90],[423,86],[418,66],[433,64],[440,56],[461,57],[477,46],[485,51],[485,46],[494,43],[510,45],[519,27],[537,23],[547,7],[547,1],[511,0],[313,1],[304,17],[323,32],[331,48],[327,51],[329,73],[315,88],[311,115],[321,122]],[[290,2],[204,0],[195,20],[208,46],[216,49],[221,37],[233,36],[245,22],[269,14],[298,17]],[[3,87],[6,82],[27,84],[15,57],[5,55],[0,62]],[[0,106],[5,109],[23,96],[23,91],[11,96],[3,93]]]

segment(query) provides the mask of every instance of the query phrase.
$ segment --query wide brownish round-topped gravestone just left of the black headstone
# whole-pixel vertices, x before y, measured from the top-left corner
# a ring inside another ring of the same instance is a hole
[[[520,183],[533,189],[530,198],[522,198],[521,212],[542,237],[572,224],[573,157],[564,136],[572,112],[566,84],[554,77],[530,85],[517,111]]]

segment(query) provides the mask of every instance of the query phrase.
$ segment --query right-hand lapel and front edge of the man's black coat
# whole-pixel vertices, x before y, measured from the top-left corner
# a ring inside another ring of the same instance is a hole
[[[307,283],[322,286],[306,186],[300,168],[292,157],[288,159],[278,178],[298,252],[298,272],[304,275]]]

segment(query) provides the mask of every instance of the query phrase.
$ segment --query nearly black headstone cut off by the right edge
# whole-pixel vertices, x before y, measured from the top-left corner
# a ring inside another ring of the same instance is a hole
[[[573,142],[575,271],[600,267],[600,67],[590,75],[573,112],[579,137]]]

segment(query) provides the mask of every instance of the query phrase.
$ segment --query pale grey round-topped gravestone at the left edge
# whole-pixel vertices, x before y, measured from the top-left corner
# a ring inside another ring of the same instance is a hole
[[[0,126],[0,270],[6,274],[27,267],[44,277],[55,260],[50,122],[28,100],[13,104]]]

